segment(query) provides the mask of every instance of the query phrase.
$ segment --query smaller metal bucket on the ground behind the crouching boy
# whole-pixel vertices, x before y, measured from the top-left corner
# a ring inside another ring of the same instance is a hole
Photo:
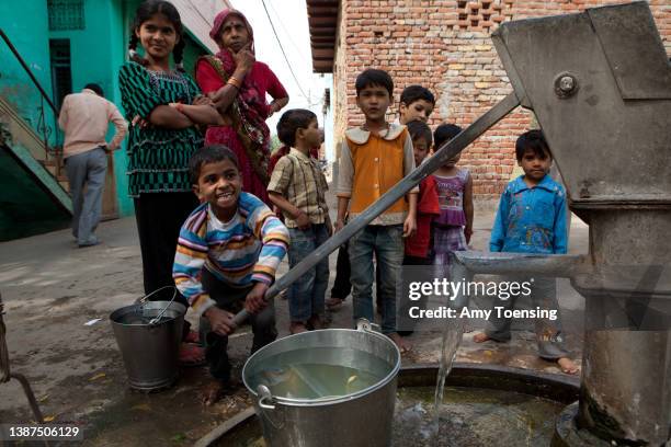
[[[173,301],[138,302],[112,312],[110,320],[130,388],[153,391],[174,382],[185,313],[186,308]]]

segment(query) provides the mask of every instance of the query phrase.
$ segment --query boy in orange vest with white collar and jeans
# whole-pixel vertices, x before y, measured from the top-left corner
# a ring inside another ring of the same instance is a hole
[[[367,69],[356,78],[356,105],[365,123],[345,133],[338,179],[338,220],[336,231],[344,226],[345,214],[355,218],[396,183],[414,170],[412,140],[406,126],[387,123],[394,82],[384,70]],[[408,352],[410,345],[396,329],[396,290],[403,261],[403,238],[416,231],[418,187],[376,217],[350,239],[353,317],[373,321],[373,257],[377,261],[382,300],[382,331]]]

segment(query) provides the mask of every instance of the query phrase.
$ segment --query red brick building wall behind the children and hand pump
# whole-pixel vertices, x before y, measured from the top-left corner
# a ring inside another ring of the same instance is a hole
[[[619,1],[622,3],[624,1]],[[437,99],[430,124],[473,123],[512,91],[490,33],[503,21],[579,12],[613,4],[600,0],[343,0],[334,60],[334,135],[363,122],[354,80],[366,68],[390,72],[396,117],[398,98],[419,83]],[[650,7],[667,53],[671,53],[671,3]],[[474,177],[478,198],[497,198],[514,165],[514,141],[533,114],[518,108],[463,152],[460,165]],[[339,152],[337,151],[337,154]]]

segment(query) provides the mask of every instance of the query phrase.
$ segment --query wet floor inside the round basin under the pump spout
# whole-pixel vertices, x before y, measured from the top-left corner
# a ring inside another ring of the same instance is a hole
[[[446,387],[436,426],[431,387],[399,388],[395,447],[548,446],[565,404],[511,391]],[[437,432],[436,432],[437,428]],[[266,446],[255,421],[217,445]]]

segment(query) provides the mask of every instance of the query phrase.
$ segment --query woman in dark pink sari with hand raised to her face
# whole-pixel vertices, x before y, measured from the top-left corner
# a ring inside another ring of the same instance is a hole
[[[205,144],[219,144],[238,156],[242,191],[266,204],[270,177],[270,130],[265,119],[288,103],[288,94],[273,71],[254,58],[254,36],[241,12],[217,14],[209,36],[219,46],[216,56],[196,62],[196,82],[224,117],[223,126],[211,126]],[[273,102],[265,100],[270,93]]]

